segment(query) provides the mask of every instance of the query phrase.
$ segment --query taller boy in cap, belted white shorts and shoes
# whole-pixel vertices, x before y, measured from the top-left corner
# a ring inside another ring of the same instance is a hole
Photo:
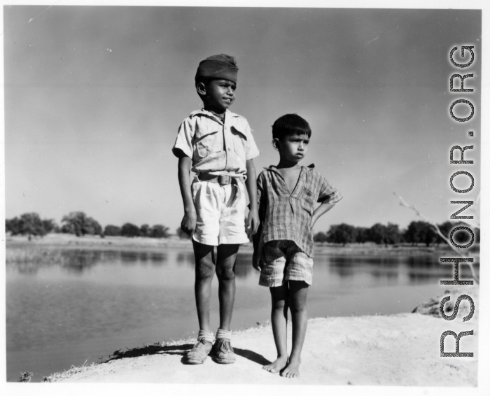
[[[258,228],[257,187],[253,158],[259,155],[245,118],[228,111],[235,101],[237,59],[213,55],[200,62],[195,76],[204,103],[179,127],[172,153],[179,157],[179,185],[184,205],[181,229],[193,237],[195,300],[199,334],[184,361],[198,365],[212,353],[218,363],[233,363],[230,323],[235,302],[235,260],[240,243]],[[190,171],[196,173],[192,183]],[[245,222],[245,189],[250,211]],[[216,257],[214,246],[218,246]],[[218,276],[220,327],[209,327],[209,299]]]

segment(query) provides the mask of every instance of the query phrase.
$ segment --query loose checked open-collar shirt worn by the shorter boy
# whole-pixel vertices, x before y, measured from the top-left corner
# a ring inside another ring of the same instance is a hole
[[[257,179],[260,227],[253,236],[253,247],[262,250],[269,241],[293,241],[313,257],[313,232],[309,227],[317,202],[335,204],[342,195],[314,170],[301,167],[296,187],[290,192],[276,167],[262,171]]]

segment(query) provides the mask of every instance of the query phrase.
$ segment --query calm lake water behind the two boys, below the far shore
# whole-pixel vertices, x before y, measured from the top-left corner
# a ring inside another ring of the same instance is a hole
[[[192,248],[158,253],[60,250],[63,264],[6,267],[7,381],[32,381],[98,362],[118,349],[195,337]],[[409,312],[444,290],[451,265],[438,255],[339,256],[315,252],[309,317]],[[460,278],[468,277],[461,265]],[[258,285],[251,253],[239,253],[234,330],[269,319],[269,290]],[[218,281],[211,324],[218,327]],[[271,342],[273,342],[271,334]]]

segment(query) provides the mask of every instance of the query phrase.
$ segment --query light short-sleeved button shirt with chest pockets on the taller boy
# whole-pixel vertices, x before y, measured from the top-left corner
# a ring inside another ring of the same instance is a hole
[[[246,161],[260,154],[244,117],[227,110],[223,123],[204,108],[183,120],[174,155],[176,148],[192,159],[192,171],[211,175],[244,176]]]

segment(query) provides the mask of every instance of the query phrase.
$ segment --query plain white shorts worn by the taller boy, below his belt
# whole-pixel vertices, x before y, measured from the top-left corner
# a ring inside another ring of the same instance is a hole
[[[197,214],[194,241],[211,246],[248,242],[244,183],[219,185],[195,179],[192,192]]]

